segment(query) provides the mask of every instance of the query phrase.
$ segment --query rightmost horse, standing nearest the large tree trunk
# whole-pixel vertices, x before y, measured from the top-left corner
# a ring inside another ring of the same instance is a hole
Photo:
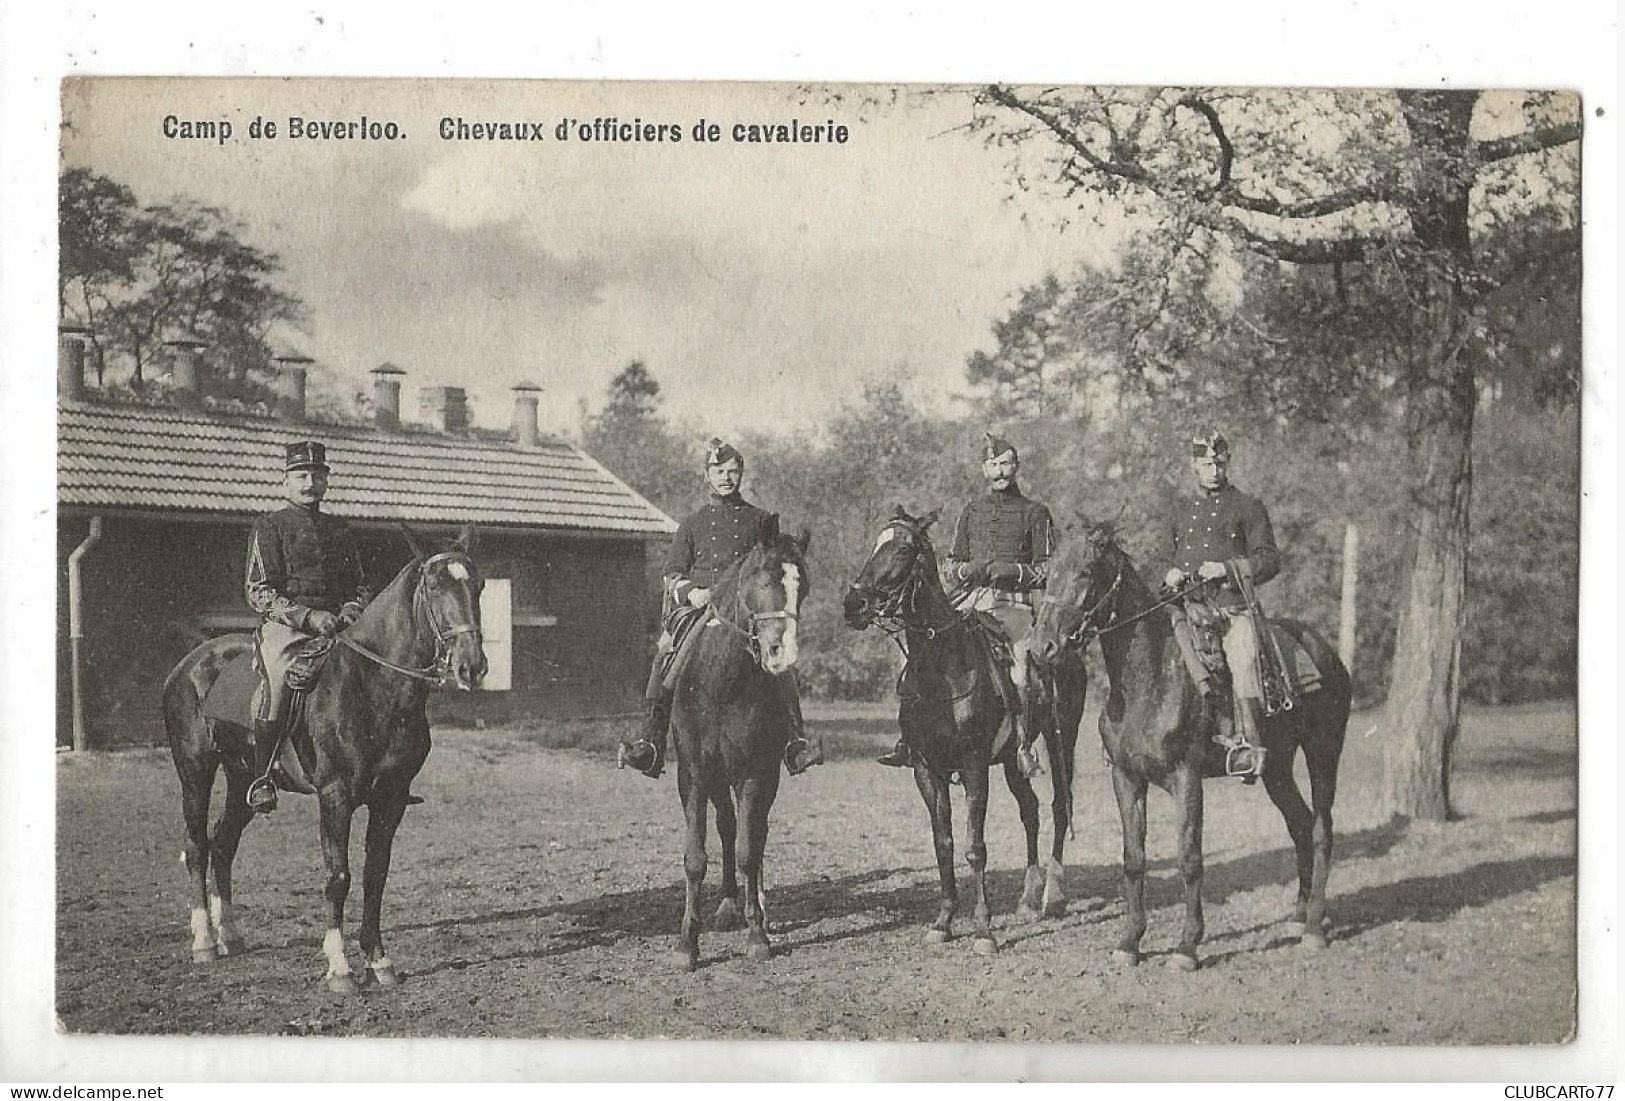
[[[1164,607],[1173,598],[1150,593],[1112,525],[1084,525],[1084,538],[1061,542],[1050,560],[1048,589],[1038,606],[1032,653],[1040,664],[1079,653],[1100,640],[1110,690],[1100,739],[1112,762],[1112,789],[1123,825],[1124,930],[1113,958],[1141,960],[1146,934],[1146,789],[1173,796],[1185,882],[1185,926],[1167,963],[1194,971],[1202,940],[1202,778],[1212,744],[1212,705],[1204,702],[1180,654]],[[1336,650],[1305,624],[1274,619],[1321,672],[1318,690],[1266,718],[1259,737],[1264,789],[1285,820],[1297,851],[1298,896],[1292,932],[1305,948],[1326,947],[1326,877],[1331,869],[1332,801],[1337,762],[1349,724],[1349,671]],[[1264,640],[1259,640],[1266,645]],[[1313,812],[1292,775],[1303,750]]]

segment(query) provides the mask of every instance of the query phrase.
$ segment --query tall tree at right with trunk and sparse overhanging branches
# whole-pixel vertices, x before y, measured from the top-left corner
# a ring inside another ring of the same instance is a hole
[[[1407,309],[1389,318],[1384,367],[1406,419],[1414,531],[1389,677],[1383,796],[1393,814],[1446,818],[1474,408],[1492,364],[1492,299],[1539,266],[1534,239],[1578,226],[1578,101],[1008,86],[990,86],[982,99],[999,109],[983,120],[991,138],[1017,156],[1037,149],[1068,201],[1118,205],[1155,224],[1167,242],[1157,265],[1164,297],[1188,286],[1193,271],[1212,274],[1246,257],[1323,268],[1334,281],[1363,270],[1404,297]],[[1165,307],[1152,322],[1180,328]],[[1180,349],[1172,351],[1150,365],[1176,375]],[[1251,382],[1268,390],[1289,362],[1277,356],[1264,364],[1274,378],[1266,370]]]

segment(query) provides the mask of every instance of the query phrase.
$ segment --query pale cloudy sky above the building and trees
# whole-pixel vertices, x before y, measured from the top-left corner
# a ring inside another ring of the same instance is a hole
[[[544,429],[569,432],[642,359],[702,434],[816,432],[895,372],[946,408],[1020,287],[1110,261],[1112,224],[1012,187],[1011,154],[965,132],[973,110],[965,91],[788,84],[91,80],[65,86],[63,162],[240,218],[309,309],[284,343],[346,391],[403,367],[408,414],[416,388],[458,385],[479,424],[505,425],[528,380]],[[292,115],[406,136],[294,140]],[[166,136],[171,117],[232,136]],[[247,136],[257,117],[275,140]],[[600,117],[676,123],[682,141],[556,140]],[[538,122],[546,140],[444,140],[442,119]],[[702,119],[722,141],[692,140]],[[791,119],[850,136],[731,140]]]

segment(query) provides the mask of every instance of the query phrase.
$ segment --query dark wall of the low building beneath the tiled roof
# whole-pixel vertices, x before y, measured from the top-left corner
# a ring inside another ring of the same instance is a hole
[[[83,516],[57,531],[57,742],[72,740],[67,562]],[[107,518],[84,557],[86,726],[91,745],[162,744],[159,687],[205,638],[250,630],[242,598],[245,521]],[[356,533],[367,578],[382,589],[410,560],[388,529]],[[514,690],[442,693],[439,724],[526,715],[580,716],[637,706],[648,667],[645,546],[551,533],[481,533],[486,576],[514,581]]]

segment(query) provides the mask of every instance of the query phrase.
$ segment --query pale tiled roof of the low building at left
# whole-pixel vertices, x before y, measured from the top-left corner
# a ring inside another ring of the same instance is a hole
[[[348,520],[666,534],[676,525],[587,453],[369,425],[291,424],[158,406],[63,401],[57,502],[254,516],[283,503],[283,447],[327,445],[325,507]]]

